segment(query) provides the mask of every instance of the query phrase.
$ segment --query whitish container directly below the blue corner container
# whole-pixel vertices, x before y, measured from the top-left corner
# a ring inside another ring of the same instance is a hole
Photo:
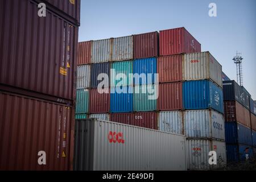
[[[214,110],[184,111],[184,135],[187,138],[225,140],[224,116]]]

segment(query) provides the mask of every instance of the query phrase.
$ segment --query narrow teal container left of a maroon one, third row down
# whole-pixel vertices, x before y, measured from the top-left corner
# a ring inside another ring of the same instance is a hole
[[[89,90],[76,90],[76,114],[85,114],[89,111]]]

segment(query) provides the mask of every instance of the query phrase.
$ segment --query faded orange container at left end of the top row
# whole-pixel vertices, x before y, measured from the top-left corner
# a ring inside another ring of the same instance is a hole
[[[92,41],[78,44],[77,65],[90,64],[92,59]]]

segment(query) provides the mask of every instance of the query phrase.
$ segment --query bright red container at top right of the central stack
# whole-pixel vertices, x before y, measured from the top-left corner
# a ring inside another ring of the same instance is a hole
[[[184,28],[160,31],[160,56],[201,52],[201,44]]]

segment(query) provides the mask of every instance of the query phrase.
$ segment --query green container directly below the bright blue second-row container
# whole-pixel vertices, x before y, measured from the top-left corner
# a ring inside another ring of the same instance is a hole
[[[158,92],[155,85],[135,85],[134,87],[134,111],[154,111],[156,110]],[[152,98],[151,98],[152,97]]]

